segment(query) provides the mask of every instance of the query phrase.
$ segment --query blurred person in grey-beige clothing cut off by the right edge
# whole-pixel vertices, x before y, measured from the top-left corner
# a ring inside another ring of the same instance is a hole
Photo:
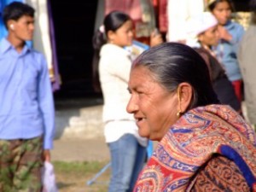
[[[252,10],[251,25],[245,32],[240,49],[238,51],[238,61],[241,68],[241,75],[244,82],[245,103],[247,107],[247,117],[251,124],[256,125],[256,81],[255,81],[255,61],[256,61],[256,1],[251,0]]]

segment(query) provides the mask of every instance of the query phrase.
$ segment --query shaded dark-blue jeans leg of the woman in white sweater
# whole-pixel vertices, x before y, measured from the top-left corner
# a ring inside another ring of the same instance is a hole
[[[147,148],[141,146],[139,143],[137,143],[137,154],[136,154],[136,160],[131,176],[131,183],[130,183],[130,188],[127,190],[127,192],[133,191],[133,187],[137,181],[137,177],[139,173],[142,171],[145,160],[147,156]]]

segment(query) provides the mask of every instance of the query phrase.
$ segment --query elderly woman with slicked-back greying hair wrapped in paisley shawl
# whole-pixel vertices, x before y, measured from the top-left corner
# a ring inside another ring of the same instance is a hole
[[[139,134],[160,143],[134,191],[256,191],[256,137],[220,105],[194,49],[156,46],[131,67],[127,111]]]

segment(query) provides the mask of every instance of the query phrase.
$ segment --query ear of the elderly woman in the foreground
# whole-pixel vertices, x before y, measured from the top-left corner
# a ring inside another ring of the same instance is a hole
[[[178,111],[185,113],[189,108],[193,96],[193,88],[188,83],[181,83],[177,87]]]

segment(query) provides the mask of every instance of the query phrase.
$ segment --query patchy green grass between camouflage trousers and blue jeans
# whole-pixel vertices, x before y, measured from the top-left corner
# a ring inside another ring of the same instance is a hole
[[[97,177],[91,185],[86,184],[96,176],[96,173],[102,170],[108,162],[90,161],[90,162],[65,162],[53,161],[55,168],[56,183],[59,192],[106,192],[108,191],[108,182],[110,169]]]

